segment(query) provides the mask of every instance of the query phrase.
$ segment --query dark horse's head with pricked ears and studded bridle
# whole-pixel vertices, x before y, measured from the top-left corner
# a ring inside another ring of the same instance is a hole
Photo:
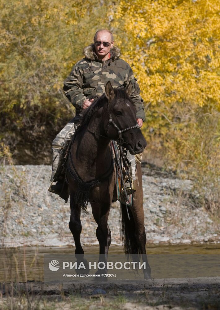
[[[131,154],[143,152],[147,142],[137,124],[136,108],[130,98],[132,83],[124,89],[113,88],[108,81],[105,96],[108,99],[109,119],[106,124],[106,135],[118,141]]]

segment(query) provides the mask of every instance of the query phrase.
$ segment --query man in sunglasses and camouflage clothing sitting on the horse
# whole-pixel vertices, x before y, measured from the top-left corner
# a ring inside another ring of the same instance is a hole
[[[129,64],[120,57],[120,49],[114,47],[114,39],[111,31],[98,30],[94,36],[94,44],[85,47],[85,57],[78,61],[64,80],[64,92],[68,100],[76,108],[76,116],[59,132],[52,143],[53,164],[51,175],[51,186],[49,191],[60,194],[63,187],[63,175],[61,174],[64,154],[70,139],[72,138],[82,110],[105,92],[108,81],[113,87],[125,88],[129,82],[132,83],[130,98],[136,107],[137,123],[140,127],[145,119],[143,99],[137,79]],[[129,152],[127,158],[131,162],[130,177],[135,179],[135,157]],[[56,182],[56,184],[55,184]],[[133,182],[125,182],[128,194],[135,191]]]

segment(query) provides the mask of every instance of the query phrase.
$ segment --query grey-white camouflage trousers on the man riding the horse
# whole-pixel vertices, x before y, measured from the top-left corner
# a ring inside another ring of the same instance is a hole
[[[64,155],[66,149],[68,147],[69,141],[75,133],[75,126],[73,121],[71,120],[56,136],[56,138],[52,142],[52,152],[53,152],[53,163],[52,163],[52,174],[51,174],[51,182],[56,182],[59,179],[59,175],[61,172],[62,164],[64,162]],[[135,177],[135,157],[131,155],[130,152],[127,152],[127,158],[131,162],[130,166],[130,175],[133,181],[136,179]]]

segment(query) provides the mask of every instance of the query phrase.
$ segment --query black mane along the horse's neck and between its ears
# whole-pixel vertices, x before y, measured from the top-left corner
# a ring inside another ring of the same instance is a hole
[[[103,117],[111,113],[115,104],[125,104],[127,100],[134,104],[124,89],[114,88],[114,94],[115,96],[110,104],[108,104],[108,99],[105,94],[103,94],[95,100],[89,108],[81,112],[82,119],[80,121],[80,126],[77,128],[77,133],[83,131],[85,126],[87,126],[94,117]]]

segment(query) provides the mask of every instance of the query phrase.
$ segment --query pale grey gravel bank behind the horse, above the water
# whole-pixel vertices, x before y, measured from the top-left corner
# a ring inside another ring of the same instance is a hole
[[[143,167],[147,243],[220,243],[219,225],[197,203],[191,180]],[[0,171],[0,246],[74,245],[69,203],[47,191],[51,166],[3,166]],[[81,213],[83,244],[97,244],[91,208]],[[120,242],[120,208],[113,203],[112,244]]]

